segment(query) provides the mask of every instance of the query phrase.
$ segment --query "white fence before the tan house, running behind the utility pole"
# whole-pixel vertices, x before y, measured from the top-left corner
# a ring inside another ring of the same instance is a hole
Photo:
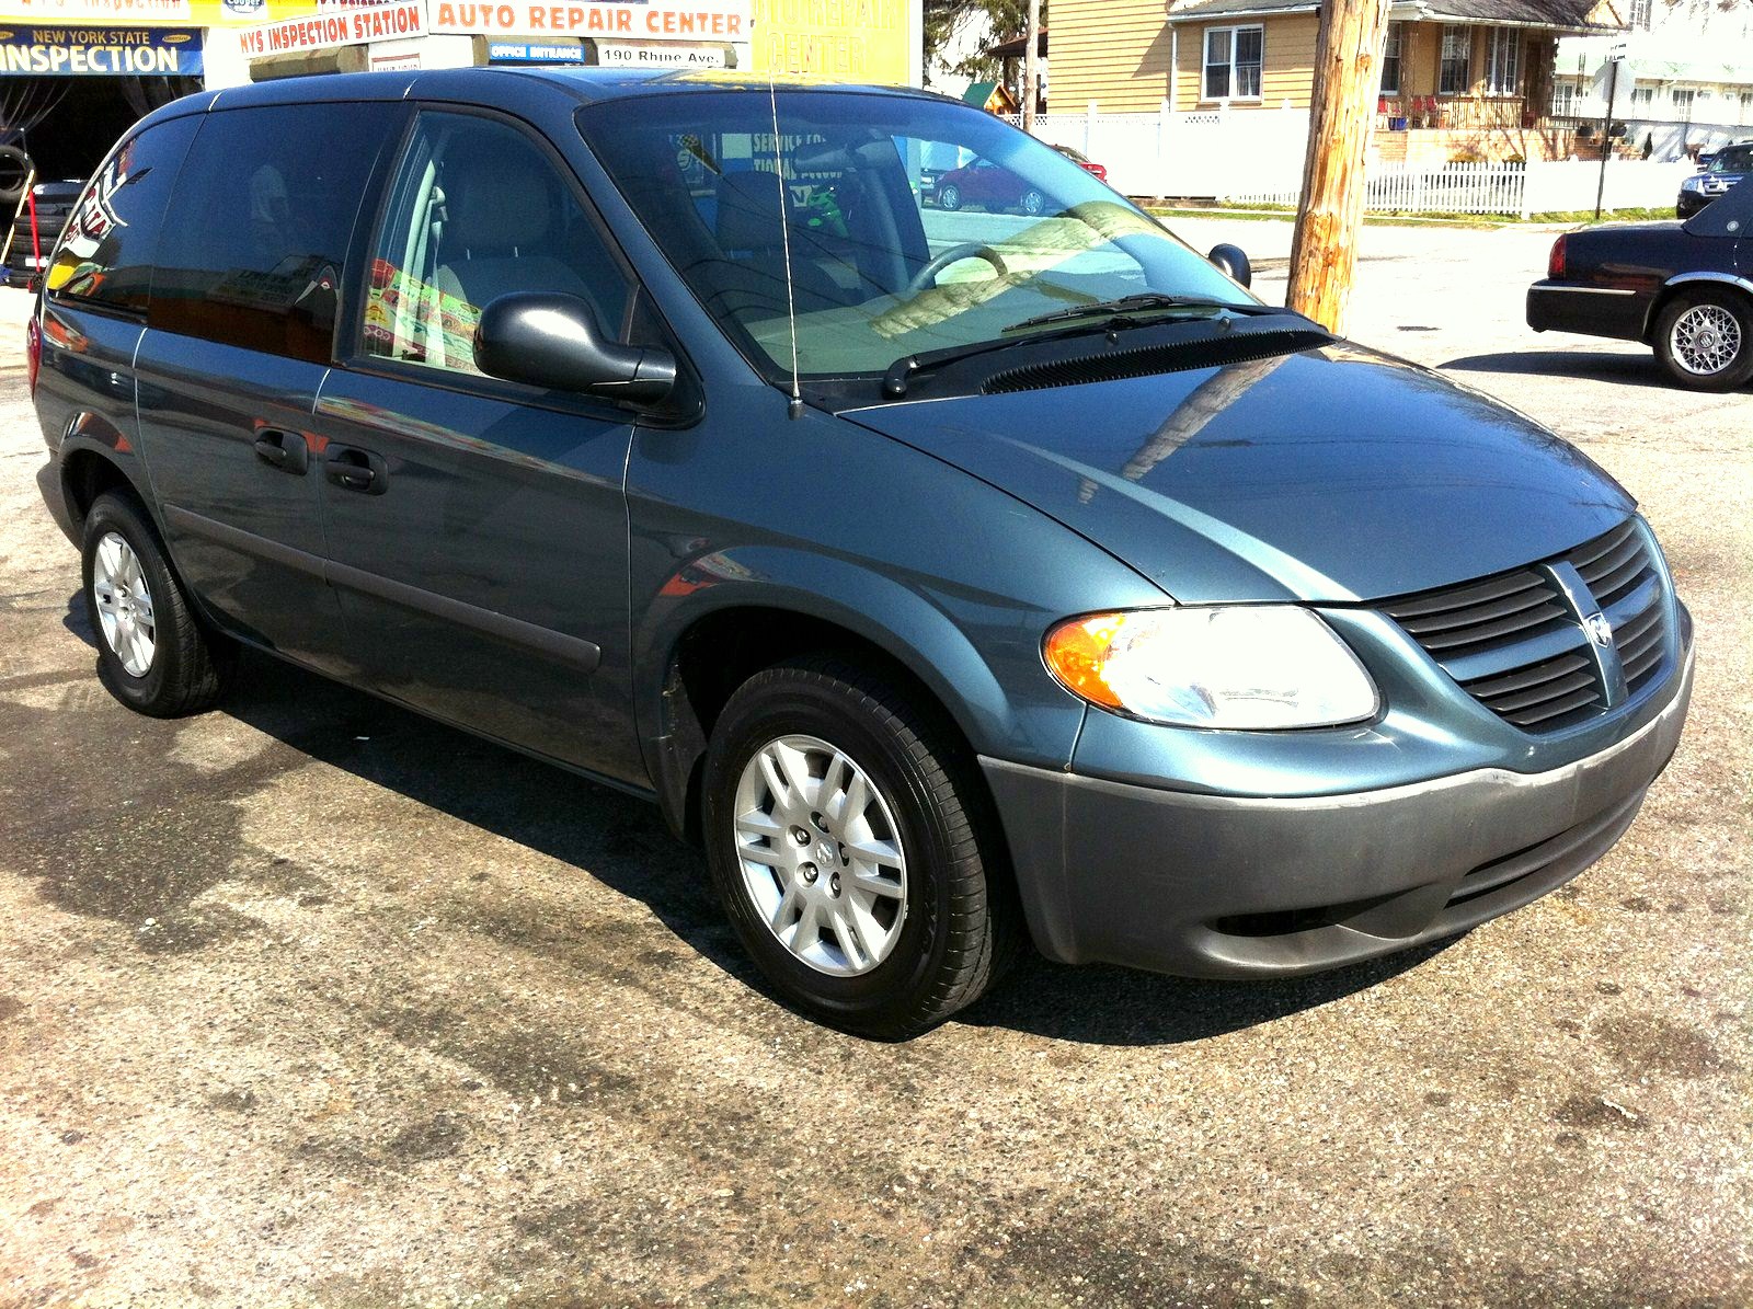
[[[1041,114],[1034,135],[1108,166],[1132,196],[1189,196],[1246,205],[1295,205],[1302,188],[1308,110]],[[1604,209],[1674,203],[1688,163],[1613,159]],[[1530,214],[1593,209],[1599,161],[1374,165],[1366,209],[1404,214]]]

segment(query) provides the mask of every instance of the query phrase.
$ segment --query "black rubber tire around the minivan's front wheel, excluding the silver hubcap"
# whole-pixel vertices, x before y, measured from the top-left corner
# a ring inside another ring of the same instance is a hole
[[[889,806],[905,852],[899,936],[855,976],[794,955],[743,880],[738,785],[757,752],[785,736],[845,752]],[[752,676],[713,727],[703,803],[706,864],[738,938],[787,1001],[831,1027],[884,1041],[917,1036],[973,1004],[1015,957],[1020,911],[973,761],[936,711],[880,673],[822,655]]]

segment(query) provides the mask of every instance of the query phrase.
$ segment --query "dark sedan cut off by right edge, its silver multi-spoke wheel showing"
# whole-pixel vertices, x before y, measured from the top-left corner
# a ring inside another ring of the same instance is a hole
[[[1753,377],[1749,233],[1753,186],[1685,223],[1569,231],[1529,287],[1529,326],[1644,342],[1679,386],[1732,391]]]

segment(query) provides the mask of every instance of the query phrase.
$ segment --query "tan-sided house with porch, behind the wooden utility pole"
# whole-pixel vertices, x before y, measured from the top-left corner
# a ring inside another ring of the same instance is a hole
[[[1054,0],[1052,109],[1308,109],[1318,11],[1315,0]],[[1395,0],[1390,18],[1383,158],[1555,152],[1541,133],[1558,37],[1623,26],[1613,0]]]

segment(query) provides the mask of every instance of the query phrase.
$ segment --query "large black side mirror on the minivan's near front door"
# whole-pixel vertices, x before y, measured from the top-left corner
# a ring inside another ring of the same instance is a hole
[[[475,366],[545,391],[650,405],[675,386],[675,356],[612,342],[578,296],[514,291],[480,310]]]

